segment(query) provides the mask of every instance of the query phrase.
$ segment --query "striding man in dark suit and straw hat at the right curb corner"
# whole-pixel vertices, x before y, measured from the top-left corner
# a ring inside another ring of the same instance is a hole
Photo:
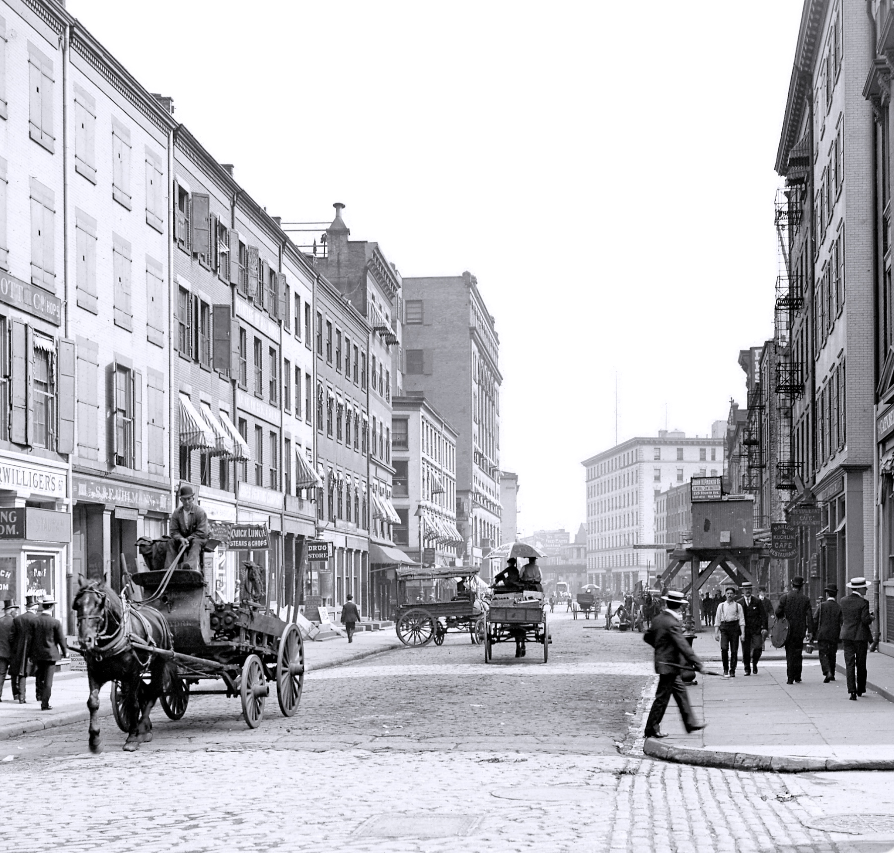
[[[685,604],[686,596],[671,589],[662,598],[667,607],[654,615],[652,627],[643,635],[645,642],[654,646],[655,671],[658,673],[658,689],[655,691],[649,718],[645,722],[646,738],[665,737],[659,727],[671,696],[677,701],[686,731],[704,729],[704,723],[697,722],[692,713],[686,685],[680,678],[682,670],[704,670],[698,655],[683,636],[680,608]]]

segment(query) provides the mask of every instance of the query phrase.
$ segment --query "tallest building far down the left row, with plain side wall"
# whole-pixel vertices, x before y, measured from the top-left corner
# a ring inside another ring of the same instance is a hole
[[[404,278],[403,388],[457,431],[457,524],[466,565],[500,544],[500,339],[477,279]]]

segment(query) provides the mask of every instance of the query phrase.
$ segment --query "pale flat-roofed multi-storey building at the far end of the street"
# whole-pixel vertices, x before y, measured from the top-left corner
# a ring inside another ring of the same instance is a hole
[[[723,475],[722,438],[687,438],[662,430],[654,438],[631,438],[597,453],[586,468],[586,565],[596,583],[615,592],[632,589],[664,570],[666,553],[635,545],[656,543],[655,501],[669,486],[690,477]]]

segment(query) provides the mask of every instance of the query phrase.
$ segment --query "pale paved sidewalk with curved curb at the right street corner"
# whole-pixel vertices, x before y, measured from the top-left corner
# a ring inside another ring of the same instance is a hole
[[[722,671],[716,645],[710,653],[707,643],[696,641],[699,645],[708,668]],[[699,675],[689,699],[707,728],[687,734],[671,700],[662,722],[669,737],[646,739],[645,754],[684,764],[784,773],[894,770],[894,658],[873,653],[866,669],[867,693],[856,702],[848,699],[840,651],[838,674],[829,684],[823,684],[815,652],[804,655],[802,683],[787,684],[780,649],[764,653],[758,674],[748,678],[741,663],[735,679]]]

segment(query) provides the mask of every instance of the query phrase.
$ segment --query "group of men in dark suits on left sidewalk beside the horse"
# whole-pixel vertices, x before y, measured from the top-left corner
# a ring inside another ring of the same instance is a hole
[[[0,617],[0,702],[6,674],[9,673],[13,688],[13,702],[25,702],[25,682],[34,676],[35,693],[41,710],[51,711],[53,673],[60,657],[68,657],[62,623],[55,619],[55,599],[29,595],[25,599],[25,612],[13,601],[4,602]]]

